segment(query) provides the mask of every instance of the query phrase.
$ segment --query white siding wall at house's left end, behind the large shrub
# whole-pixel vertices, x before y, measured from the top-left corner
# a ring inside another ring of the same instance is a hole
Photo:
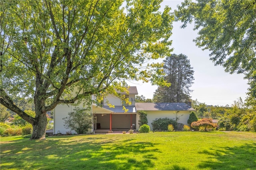
[[[66,132],[71,131],[72,133],[76,133],[74,130],[70,130],[70,128],[66,129],[64,127],[63,118],[68,117],[68,113],[74,111],[76,107],[83,108],[83,104],[81,103],[79,106],[72,105],[57,105],[54,109],[54,128],[53,133],[58,134],[59,132],[62,134],[66,134]],[[88,132],[92,132],[92,129],[89,129]]]

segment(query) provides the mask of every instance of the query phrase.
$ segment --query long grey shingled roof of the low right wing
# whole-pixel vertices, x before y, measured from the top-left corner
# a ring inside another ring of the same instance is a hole
[[[137,111],[195,111],[186,103],[135,103]]]

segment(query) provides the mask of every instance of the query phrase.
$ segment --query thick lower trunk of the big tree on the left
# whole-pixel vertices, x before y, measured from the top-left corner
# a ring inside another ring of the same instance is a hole
[[[47,126],[46,113],[36,115],[36,120],[33,124],[33,132],[30,139],[45,139],[46,126]]]

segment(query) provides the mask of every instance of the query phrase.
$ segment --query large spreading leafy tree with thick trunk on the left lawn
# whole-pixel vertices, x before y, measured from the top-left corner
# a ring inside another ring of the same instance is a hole
[[[0,103],[45,138],[46,111],[122,89],[124,80],[165,84],[174,17],[161,0],[0,1]],[[115,93],[116,94],[116,93]],[[117,95],[117,94],[116,94]],[[33,98],[36,116],[14,103]]]

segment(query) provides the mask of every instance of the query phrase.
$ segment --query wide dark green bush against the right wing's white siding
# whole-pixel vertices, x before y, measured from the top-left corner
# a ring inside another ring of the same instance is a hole
[[[174,127],[174,130],[177,130],[178,123],[177,121],[169,118],[160,118],[152,121],[151,125],[153,130],[168,130],[168,125],[172,124]]]

